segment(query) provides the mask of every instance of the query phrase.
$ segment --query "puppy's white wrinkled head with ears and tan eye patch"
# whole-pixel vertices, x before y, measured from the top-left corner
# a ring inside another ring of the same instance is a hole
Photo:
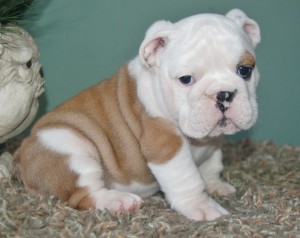
[[[155,94],[184,134],[233,134],[254,125],[259,73],[254,49],[258,24],[238,9],[200,14],[147,31],[139,58]]]

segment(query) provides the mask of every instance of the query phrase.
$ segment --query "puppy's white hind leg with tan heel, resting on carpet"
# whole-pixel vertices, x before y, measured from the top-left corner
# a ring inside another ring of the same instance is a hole
[[[71,207],[92,207],[120,213],[141,207],[139,196],[105,187],[99,153],[82,135],[71,129],[52,128],[40,131],[38,136],[48,148],[68,155],[69,167],[78,175],[77,189],[67,201]]]

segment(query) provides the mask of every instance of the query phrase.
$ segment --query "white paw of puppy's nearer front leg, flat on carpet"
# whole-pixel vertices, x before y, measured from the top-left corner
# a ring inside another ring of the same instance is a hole
[[[213,221],[229,214],[226,209],[209,197],[204,201],[199,199],[198,201],[188,202],[185,206],[176,210],[187,218],[196,221]]]

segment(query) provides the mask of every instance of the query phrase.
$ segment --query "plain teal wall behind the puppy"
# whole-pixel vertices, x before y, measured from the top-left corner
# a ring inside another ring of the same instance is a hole
[[[43,0],[29,31],[41,51],[46,94],[40,114],[112,75],[133,58],[156,20],[244,10],[260,27],[260,116],[239,137],[300,144],[299,0]],[[235,138],[237,138],[235,137]]]

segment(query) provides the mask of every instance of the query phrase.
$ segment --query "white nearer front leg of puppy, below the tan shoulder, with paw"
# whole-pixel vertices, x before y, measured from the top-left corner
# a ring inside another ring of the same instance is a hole
[[[194,220],[214,220],[228,212],[205,193],[189,144],[164,164],[148,164],[172,208]]]

